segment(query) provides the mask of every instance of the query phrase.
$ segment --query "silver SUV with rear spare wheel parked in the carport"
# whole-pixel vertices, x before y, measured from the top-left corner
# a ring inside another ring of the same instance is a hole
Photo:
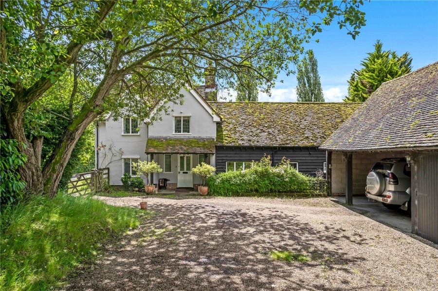
[[[389,209],[411,212],[411,167],[405,158],[377,162],[366,177],[365,196]]]

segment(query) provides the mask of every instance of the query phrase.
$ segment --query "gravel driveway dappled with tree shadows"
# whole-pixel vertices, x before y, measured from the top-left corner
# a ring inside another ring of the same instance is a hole
[[[139,197],[102,197],[135,205]],[[65,290],[437,290],[438,250],[329,198],[148,198]],[[98,214],[96,214],[98,215]],[[278,261],[271,250],[310,260]]]

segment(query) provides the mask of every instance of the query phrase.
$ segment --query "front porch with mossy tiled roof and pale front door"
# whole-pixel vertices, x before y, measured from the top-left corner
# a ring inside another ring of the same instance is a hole
[[[215,166],[215,140],[213,137],[149,137],[146,154],[163,169],[161,173],[151,174],[154,184],[164,185],[165,181],[165,190],[197,191],[201,178],[191,170],[202,162]],[[164,189],[159,187],[159,190]]]

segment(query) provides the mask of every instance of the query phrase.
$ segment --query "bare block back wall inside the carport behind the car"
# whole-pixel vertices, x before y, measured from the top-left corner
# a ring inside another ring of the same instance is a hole
[[[387,157],[404,157],[406,152],[361,152],[353,154],[353,195],[365,195],[366,176],[377,161]],[[342,153],[331,156],[331,193],[345,195],[345,162]]]

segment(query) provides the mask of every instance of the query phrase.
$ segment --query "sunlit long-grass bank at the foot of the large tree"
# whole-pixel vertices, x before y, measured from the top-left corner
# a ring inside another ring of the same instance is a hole
[[[145,212],[92,197],[33,197],[1,211],[2,290],[50,290]]]

